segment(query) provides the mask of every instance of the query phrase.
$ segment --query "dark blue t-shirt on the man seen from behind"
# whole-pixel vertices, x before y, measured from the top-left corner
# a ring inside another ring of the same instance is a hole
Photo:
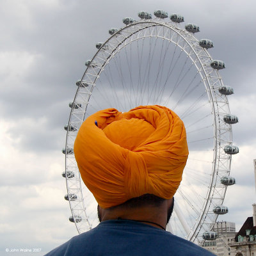
[[[214,254],[160,228],[136,221],[107,220],[102,221],[92,230],[73,237],[46,255],[212,256]]]

